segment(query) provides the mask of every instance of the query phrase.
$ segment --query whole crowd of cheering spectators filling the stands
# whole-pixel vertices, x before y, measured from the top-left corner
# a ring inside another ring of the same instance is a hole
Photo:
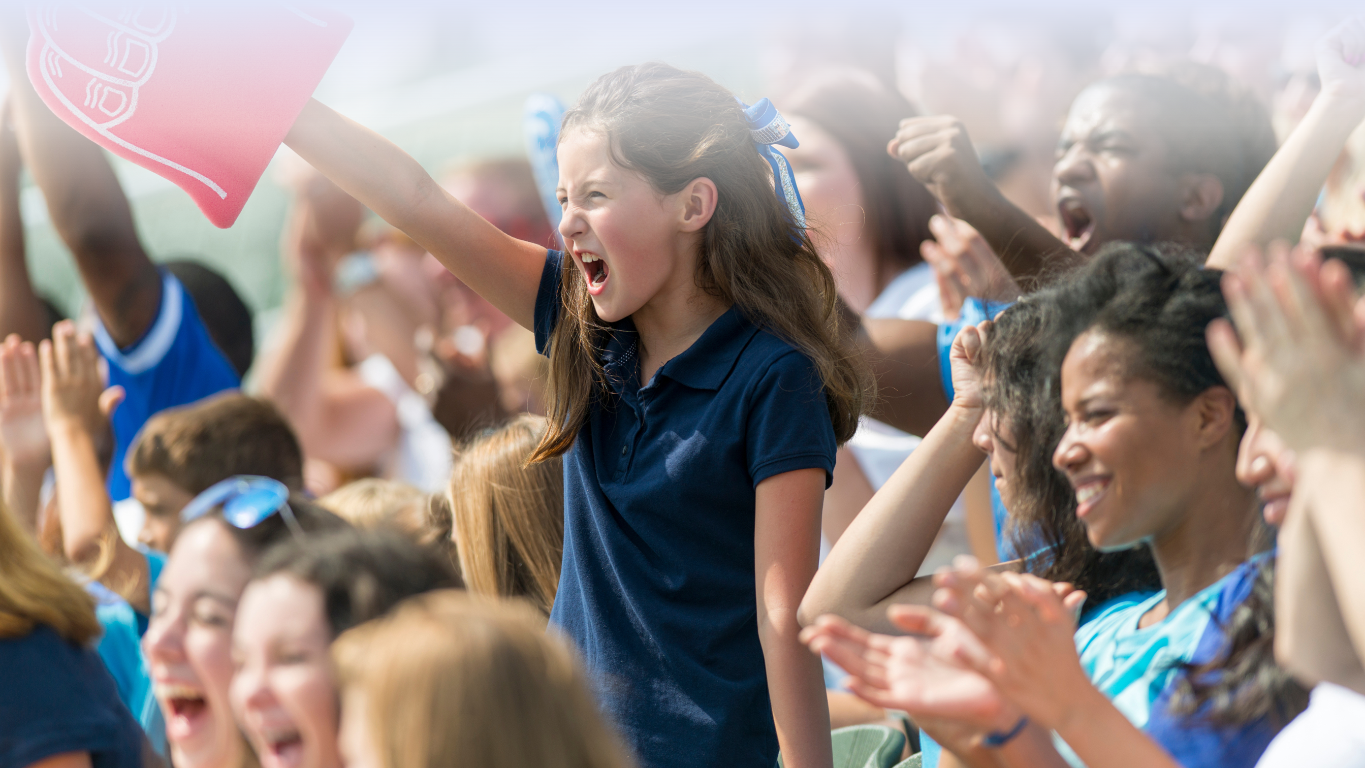
[[[1365,767],[1365,18],[1043,213],[846,64],[607,72],[549,211],[310,101],[262,344],[0,22],[0,768]]]

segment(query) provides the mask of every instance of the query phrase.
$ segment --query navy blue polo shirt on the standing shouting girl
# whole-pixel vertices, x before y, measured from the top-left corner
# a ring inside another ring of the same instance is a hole
[[[543,353],[564,255],[535,301]],[[759,645],[753,487],[834,469],[815,366],[732,307],[640,386],[629,318],[602,352],[609,390],[564,456],[564,563],[550,622],[644,768],[771,768]],[[815,557],[815,552],[811,552]]]

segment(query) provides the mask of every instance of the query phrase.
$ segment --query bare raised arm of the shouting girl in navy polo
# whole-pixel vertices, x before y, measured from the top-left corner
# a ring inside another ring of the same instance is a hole
[[[284,143],[498,310],[534,326],[543,244],[502,233],[442,190],[393,142],[317,100],[303,108]]]

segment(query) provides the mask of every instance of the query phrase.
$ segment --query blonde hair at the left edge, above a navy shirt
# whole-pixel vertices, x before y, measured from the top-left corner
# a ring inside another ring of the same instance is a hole
[[[40,623],[75,645],[102,632],[94,599],[67,578],[0,505],[0,638],[23,637]]]

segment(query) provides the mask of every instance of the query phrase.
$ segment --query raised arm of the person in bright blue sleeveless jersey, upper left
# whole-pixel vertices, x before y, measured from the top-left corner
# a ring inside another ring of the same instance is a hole
[[[132,224],[132,210],[98,145],[57,119],[25,70],[27,25],[0,19],[10,104],[25,164],[48,201],[57,235],[71,248],[100,319],[120,346],[135,344],[161,307],[161,277]]]

